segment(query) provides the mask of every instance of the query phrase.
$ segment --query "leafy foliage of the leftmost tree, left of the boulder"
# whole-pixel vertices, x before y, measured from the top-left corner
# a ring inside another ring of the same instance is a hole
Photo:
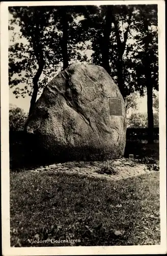
[[[32,95],[33,78],[40,61],[45,62],[44,69],[47,67],[45,32],[49,10],[42,7],[10,7],[9,11],[13,15],[9,29],[14,30],[15,26],[20,28],[19,33],[14,33],[14,44],[9,47],[9,85],[15,87],[16,96],[25,97],[26,94]],[[40,81],[39,86],[42,86]]]

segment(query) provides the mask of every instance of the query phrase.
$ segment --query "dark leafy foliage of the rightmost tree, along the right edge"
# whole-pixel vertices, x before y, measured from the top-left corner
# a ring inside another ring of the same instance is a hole
[[[132,58],[135,67],[135,77],[141,95],[144,88],[152,86],[158,90],[158,27],[157,5],[137,6],[135,13],[134,38],[139,42],[136,53]],[[151,72],[151,74],[149,74]],[[150,81],[147,76],[150,75]]]

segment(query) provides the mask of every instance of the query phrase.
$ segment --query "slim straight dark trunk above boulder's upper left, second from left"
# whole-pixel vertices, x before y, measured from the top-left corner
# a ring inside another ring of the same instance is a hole
[[[63,69],[68,67],[68,19],[67,13],[63,12],[62,14],[62,26],[63,26],[63,37],[62,37],[62,58],[63,58]]]

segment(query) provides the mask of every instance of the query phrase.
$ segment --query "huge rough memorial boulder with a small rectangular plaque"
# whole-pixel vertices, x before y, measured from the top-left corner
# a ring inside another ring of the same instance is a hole
[[[47,84],[26,132],[34,134],[33,147],[42,158],[120,158],[126,142],[125,102],[102,67],[75,63]]]

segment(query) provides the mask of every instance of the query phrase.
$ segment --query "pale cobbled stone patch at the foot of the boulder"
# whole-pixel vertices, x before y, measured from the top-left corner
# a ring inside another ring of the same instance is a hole
[[[99,174],[98,172],[105,166],[112,166],[116,174]],[[148,170],[146,164],[136,163],[135,161],[122,158],[108,161],[74,161],[66,163],[51,164],[40,166],[40,168],[31,169],[31,172],[66,172],[77,173],[79,175],[89,175],[95,178],[106,178],[109,180],[121,180],[138,175],[152,173],[154,170]]]

